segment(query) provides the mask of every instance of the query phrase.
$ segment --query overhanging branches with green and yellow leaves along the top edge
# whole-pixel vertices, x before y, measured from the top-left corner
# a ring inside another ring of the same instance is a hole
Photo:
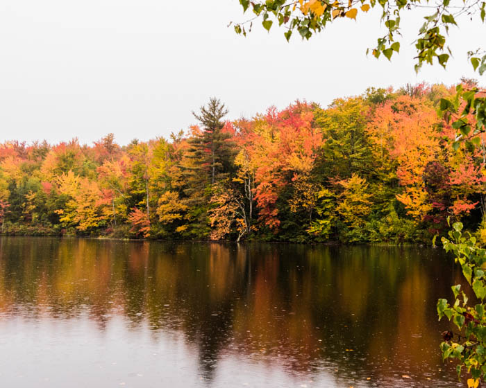
[[[388,60],[400,50],[402,17],[416,17],[406,15],[405,11],[415,8],[430,10],[424,17],[424,24],[418,31],[415,44],[415,69],[418,71],[424,62],[433,64],[434,60],[443,67],[446,66],[451,56],[451,51],[446,45],[449,28],[458,26],[458,20],[460,21],[463,15],[484,22],[486,1],[465,0],[451,3],[451,0],[438,0],[430,3],[424,0],[240,0],[240,4],[244,12],[251,9],[254,17],[249,21],[235,24],[236,33],[246,35],[247,30],[251,30],[253,20],[261,19],[266,30],[270,30],[274,22],[278,26],[283,26],[287,41],[294,31],[303,39],[310,39],[312,35],[321,32],[337,19],[357,19],[360,14],[369,12],[371,8],[379,8],[385,34],[378,37],[372,53],[376,58],[383,54]],[[479,69],[482,74],[486,71],[486,55],[480,57],[479,53],[471,51],[469,57],[474,69]]]

